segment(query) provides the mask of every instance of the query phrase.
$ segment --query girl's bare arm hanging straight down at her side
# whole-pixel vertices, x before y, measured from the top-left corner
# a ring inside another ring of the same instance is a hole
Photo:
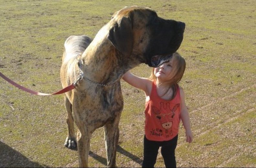
[[[187,142],[191,143],[193,141],[193,135],[190,127],[189,115],[187,106],[185,104],[185,93],[182,88],[180,88],[180,99],[181,99],[181,121],[186,130]]]

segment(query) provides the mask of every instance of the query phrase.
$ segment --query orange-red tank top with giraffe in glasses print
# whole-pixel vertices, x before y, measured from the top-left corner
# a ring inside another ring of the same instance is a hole
[[[180,89],[172,100],[164,100],[157,94],[156,83],[152,82],[150,100],[145,103],[145,136],[151,141],[169,141],[179,131]]]

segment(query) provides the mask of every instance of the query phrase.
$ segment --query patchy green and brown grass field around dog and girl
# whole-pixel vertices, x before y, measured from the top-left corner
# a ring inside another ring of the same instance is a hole
[[[238,0],[1,0],[0,72],[44,93],[61,89],[63,44],[94,37],[124,6],[151,7],[186,23],[178,52],[187,67],[186,93],[194,142],[180,126],[178,167],[256,167],[256,1]],[[148,77],[145,64],[132,69]],[[122,83],[118,167],[141,167],[144,93]],[[0,79],[0,167],[77,167],[67,136],[63,95],[34,96]],[[106,167],[103,129],[93,133],[89,166]],[[161,154],[156,167],[163,167]]]

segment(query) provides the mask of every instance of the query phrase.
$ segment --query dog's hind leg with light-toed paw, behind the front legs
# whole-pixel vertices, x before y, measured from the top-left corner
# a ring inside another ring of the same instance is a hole
[[[74,119],[72,116],[72,104],[69,102],[69,99],[66,95],[64,95],[65,99],[65,107],[67,110],[67,125],[68,125],[68,137],[65,141],[65,146],[69,149],[75,150],[77,148],[76,140],[75,140],[75,131],[74,131]]]

